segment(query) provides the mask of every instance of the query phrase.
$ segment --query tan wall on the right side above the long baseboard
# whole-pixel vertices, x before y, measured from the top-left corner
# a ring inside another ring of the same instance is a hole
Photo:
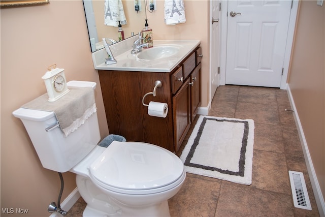
[[[325,6],[300,2],[289,87],[325,197]],[[325,198],[324,198],[325,199]]]

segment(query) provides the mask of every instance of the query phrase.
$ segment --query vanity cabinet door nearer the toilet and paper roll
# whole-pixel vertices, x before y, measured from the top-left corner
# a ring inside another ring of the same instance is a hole
[[[181,146],[190,127],[190,79],[187,78],[173,97],[175,152]]]

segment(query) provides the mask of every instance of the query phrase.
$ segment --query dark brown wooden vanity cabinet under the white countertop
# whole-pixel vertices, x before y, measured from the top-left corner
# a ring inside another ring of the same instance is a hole
[[[177,152],[201,105],[198,50],[201,47],[170,73],[98,70],[109,133]],[[156,97],[148,95],[144,103],[167,103],[166,118],[148,115],[148,107],[142,104],[156,80],[162,86],[156,89]]]

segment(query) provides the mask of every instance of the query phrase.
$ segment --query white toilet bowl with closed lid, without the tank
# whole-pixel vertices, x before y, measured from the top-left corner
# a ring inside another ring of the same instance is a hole
[[[83,216],[170,216],[167,200],[186,176],[174,153],[142,142],[98,146],[70,171],[87,203]]]

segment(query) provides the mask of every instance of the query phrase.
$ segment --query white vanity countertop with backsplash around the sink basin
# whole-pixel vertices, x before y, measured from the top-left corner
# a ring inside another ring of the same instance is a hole
[[[132,43],[134,38],[132,39]],[[121,42],[111,45],[111,51],[114,58],[117,60],[116,64],[106,65],[105,58],[108,57],[106,50],[101,49],[92,54],[94,68],[97,70],[116,70],[116,71],[144,71],[144,72],[171,72],[181,61],[193,51],[200,43],[200,40],[159,40],[153,41],[153,47],[164,45],[175,45],[179,47],[179,51],[170,57],[159,58],[156,60],[144,60],[137,58],[140,53],[131,54],[132,46],[128,44],[123,46]],[[121,44],[120,44],[121,43]],[[126,42],[125,42],[126,43]],[[124,49],[124,50],[123,50]],[[122,53],[121,53],[122,50]],[[124,51],[124,52],[123,52]],[[115,54],[117,54],[115,56]]]

